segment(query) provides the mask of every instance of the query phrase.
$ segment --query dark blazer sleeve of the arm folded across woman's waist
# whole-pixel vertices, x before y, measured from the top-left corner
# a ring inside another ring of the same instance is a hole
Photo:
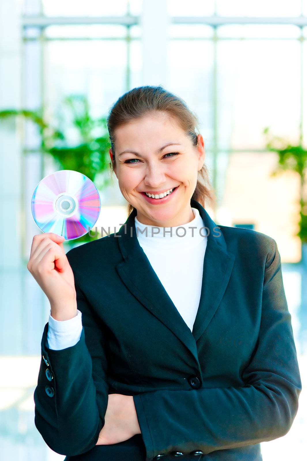
[[[242,387],[157,390],[133,397],[146,461],[159,454],[231,449],[285,435],[298,410],[301,377],[283,288],[280,254],[270,237],[260,332]]]

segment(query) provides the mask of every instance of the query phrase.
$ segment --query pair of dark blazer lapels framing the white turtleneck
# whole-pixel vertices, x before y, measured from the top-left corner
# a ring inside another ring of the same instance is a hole
[[[207,233],[201,298],[192,332],[168,296],[138,242],[135,228],[136,209],[115,234],[123,256],[123,261],[117,264],[116,270],[136,299],[163,322],[198,360],[196,341],[207,328],[224,295],[235,256],[226,251],[223,234],[219,228],[215,228],[216,224],[201,204],[191,199],[191,207],[199,210],[206,227],[203,234]]]

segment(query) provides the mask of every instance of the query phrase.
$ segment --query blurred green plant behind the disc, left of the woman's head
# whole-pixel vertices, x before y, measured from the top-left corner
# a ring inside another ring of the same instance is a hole
[[[41,155],[51,156],[58,170],[79,171],[93,182],[96,179],[98,189],[110,182],[110,178],[105,174],[109,168],[108,151],[111,147],[106,118],[91,117],[89,103],[84,95],[65,97],[54,122],[44,118],[43,108],[34,111],[2,110],[0,122],[18,116],[31,120],[37,126],[41,141],[39,151]],[[71,128],[77,139],[73,142],[67,136]],[[26,149],[24,154],[27,154]],[[89,242],[100,236],[99,233],[97,236],[89,236],[87,233],[73,242]]]

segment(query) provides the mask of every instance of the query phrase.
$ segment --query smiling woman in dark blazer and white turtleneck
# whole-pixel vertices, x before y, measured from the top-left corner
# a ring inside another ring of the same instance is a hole
[[[35,426],[65,460],[259,461],[297,413],[276,242],[209,217],[196,125],[162,87],[121,96],[109,153],[128,219],[66,255],[55,234],[33,238],[51,307]]]

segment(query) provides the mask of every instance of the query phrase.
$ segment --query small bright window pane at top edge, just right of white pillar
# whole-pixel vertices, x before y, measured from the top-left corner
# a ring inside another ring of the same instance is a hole
[[[167,0],[170,16],[212,16],[214,0]]]

